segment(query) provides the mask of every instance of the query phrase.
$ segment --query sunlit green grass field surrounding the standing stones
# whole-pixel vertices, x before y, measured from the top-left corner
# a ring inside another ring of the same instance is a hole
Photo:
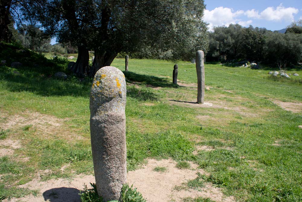
[[[55,69],[51,63],[48,68],[0,66],[0,141],[20,144],[0,144],[8,151],[0,157],[0,201],[37,194],[20,188],[37,173],[42,181],[93,174],[92,79],[62,81],[47,74],[66,71],[64,62],[55,61]],[[128,170],[146,158],[193,161],[209,173],[198,183],[214,184],[236,201],[302,201],[301,69],[287,72],[300,76],[285,79],[270,77],[269,70],[206,64],[205,102],[212,106],[202,107],[194,103],[195,65],[178,62],[179,85],[172,84],[173,65],[129,60],[124,72]],[[124,59],[112,66],[124,71]]]

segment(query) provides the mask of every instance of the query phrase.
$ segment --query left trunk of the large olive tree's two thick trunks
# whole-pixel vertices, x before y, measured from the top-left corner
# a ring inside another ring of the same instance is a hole
[[[72,66],[71,71],[78,77],[83,78],[88,75],[89,72],[89,51],[84,46],[78,46],[79,54],[76,60],[76,64]]]

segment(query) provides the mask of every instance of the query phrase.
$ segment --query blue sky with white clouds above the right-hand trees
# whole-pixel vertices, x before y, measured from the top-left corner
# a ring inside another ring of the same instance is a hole
[[[302,0],[204,0],[204,3],[204,21],[209,23],[210,30],[214,26],[238,23],[274,31],[302,19]]]

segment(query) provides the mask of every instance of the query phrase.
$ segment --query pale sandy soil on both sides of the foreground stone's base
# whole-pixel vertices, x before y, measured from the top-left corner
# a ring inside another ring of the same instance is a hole
[[[234,202],[234,197],[226,197],[221,190],[212,184],[205,183],[204,187],[199,190],[185,189],[177,191],[175,186],[180,186],[188,180],[198,177],[197,172],[207,174],[202,169],[198,169],[198,165],[191,163],[191,169],[178,169],[175,167],[176,162],[171,159],[154,160],[148,159],[148,163],[141,169],[129,171],[127,173],[127,181],[137,187],[143,197],[148,202],[181,202],[186,197],[205,197],[217,202]],[[157,166],[166,167],[164,173],[153,171]],[[19,187],[29,188],[31,190],[40,190],[37,197],[28,195],[23,198],[12,198],[11,200],[3,200],[4,202],[79,202],[79,192],[83,190],[84,184],[90,187],[90,182],[95,182],[93,175],[77,175],[73,179],[52,179],[48,181],[40,181],[40,175],[48,172],[39,171],[37,177],[32,181],[20,185]]]

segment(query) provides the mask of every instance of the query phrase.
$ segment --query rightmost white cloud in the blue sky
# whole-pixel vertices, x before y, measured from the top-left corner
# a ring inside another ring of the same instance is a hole
[[[285,8],[282,4],[280,4],[276,9],[274,7],[267,7],[260,14],[255,9],[247,10],[244,15],[248,18],[256,18],[256,19],[264,19],[268,21],[294,21],[294,14],[297,14],[299,9],[288,7]]]

